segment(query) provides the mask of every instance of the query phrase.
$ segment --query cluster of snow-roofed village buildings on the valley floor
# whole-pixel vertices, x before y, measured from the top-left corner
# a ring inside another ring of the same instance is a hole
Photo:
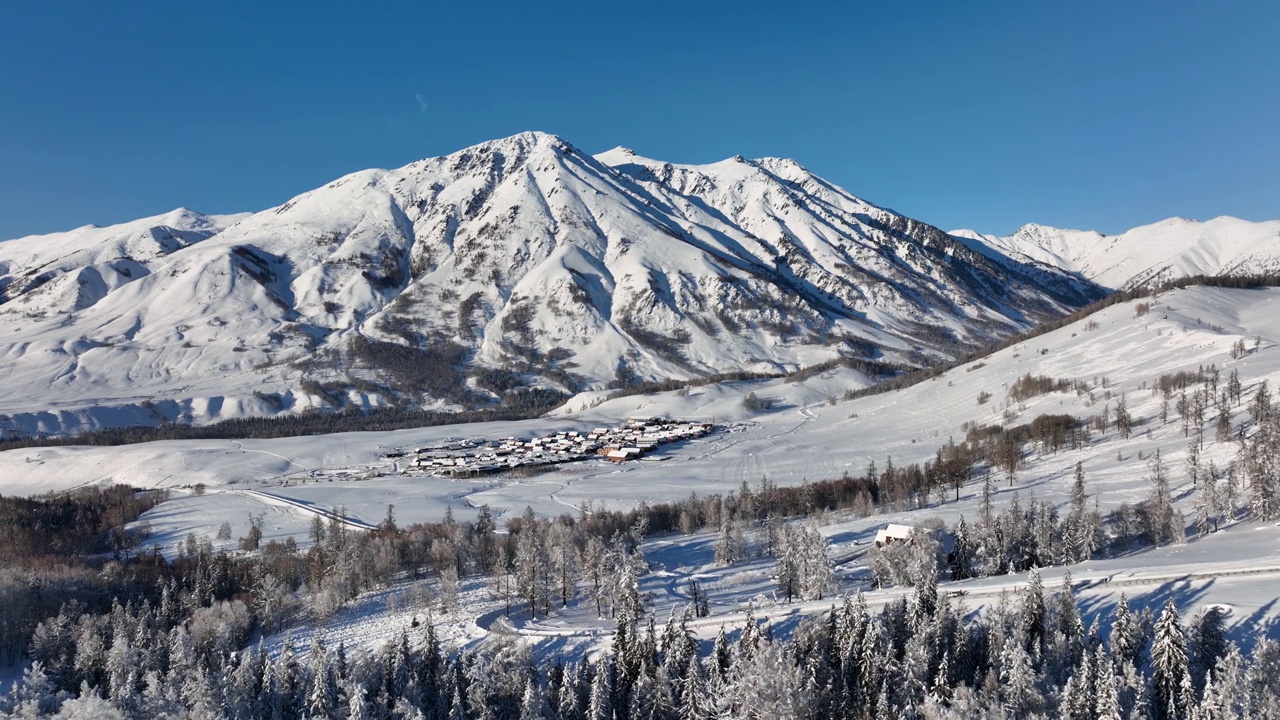
[[[530,439],[463,439],[438,447],[420,447],[411,465],[436,475],[474,477],[520,466],[550,465],[603,457],[613,462],[639,460],[660,445],[710,433],[710,423],[648,418],[617,428],[590,432],[563,430]]]

